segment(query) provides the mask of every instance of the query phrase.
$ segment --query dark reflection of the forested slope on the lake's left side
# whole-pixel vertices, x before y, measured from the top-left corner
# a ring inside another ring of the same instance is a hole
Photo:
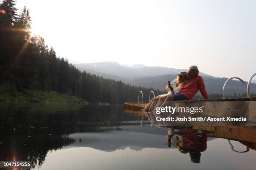
[[[71,133],[107,132],[122,130],[122,125],[139,124],[129,122],[137,117],[124,114],[122,106],[72,107],[66,108],[68,112],[40,109],[43,112],[27,106],[0,108],[0,160],[32,161],[35,168],[44,163],[49,151],[76,142],[69,138]]]

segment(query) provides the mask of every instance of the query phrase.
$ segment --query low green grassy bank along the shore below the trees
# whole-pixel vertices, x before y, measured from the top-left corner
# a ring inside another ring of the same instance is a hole
[[[25,90],[24,92],[2,92],[1,102],[49,102],[49,103],[79,103],[88,104],[82,98],[61,94],[56,91]]]

